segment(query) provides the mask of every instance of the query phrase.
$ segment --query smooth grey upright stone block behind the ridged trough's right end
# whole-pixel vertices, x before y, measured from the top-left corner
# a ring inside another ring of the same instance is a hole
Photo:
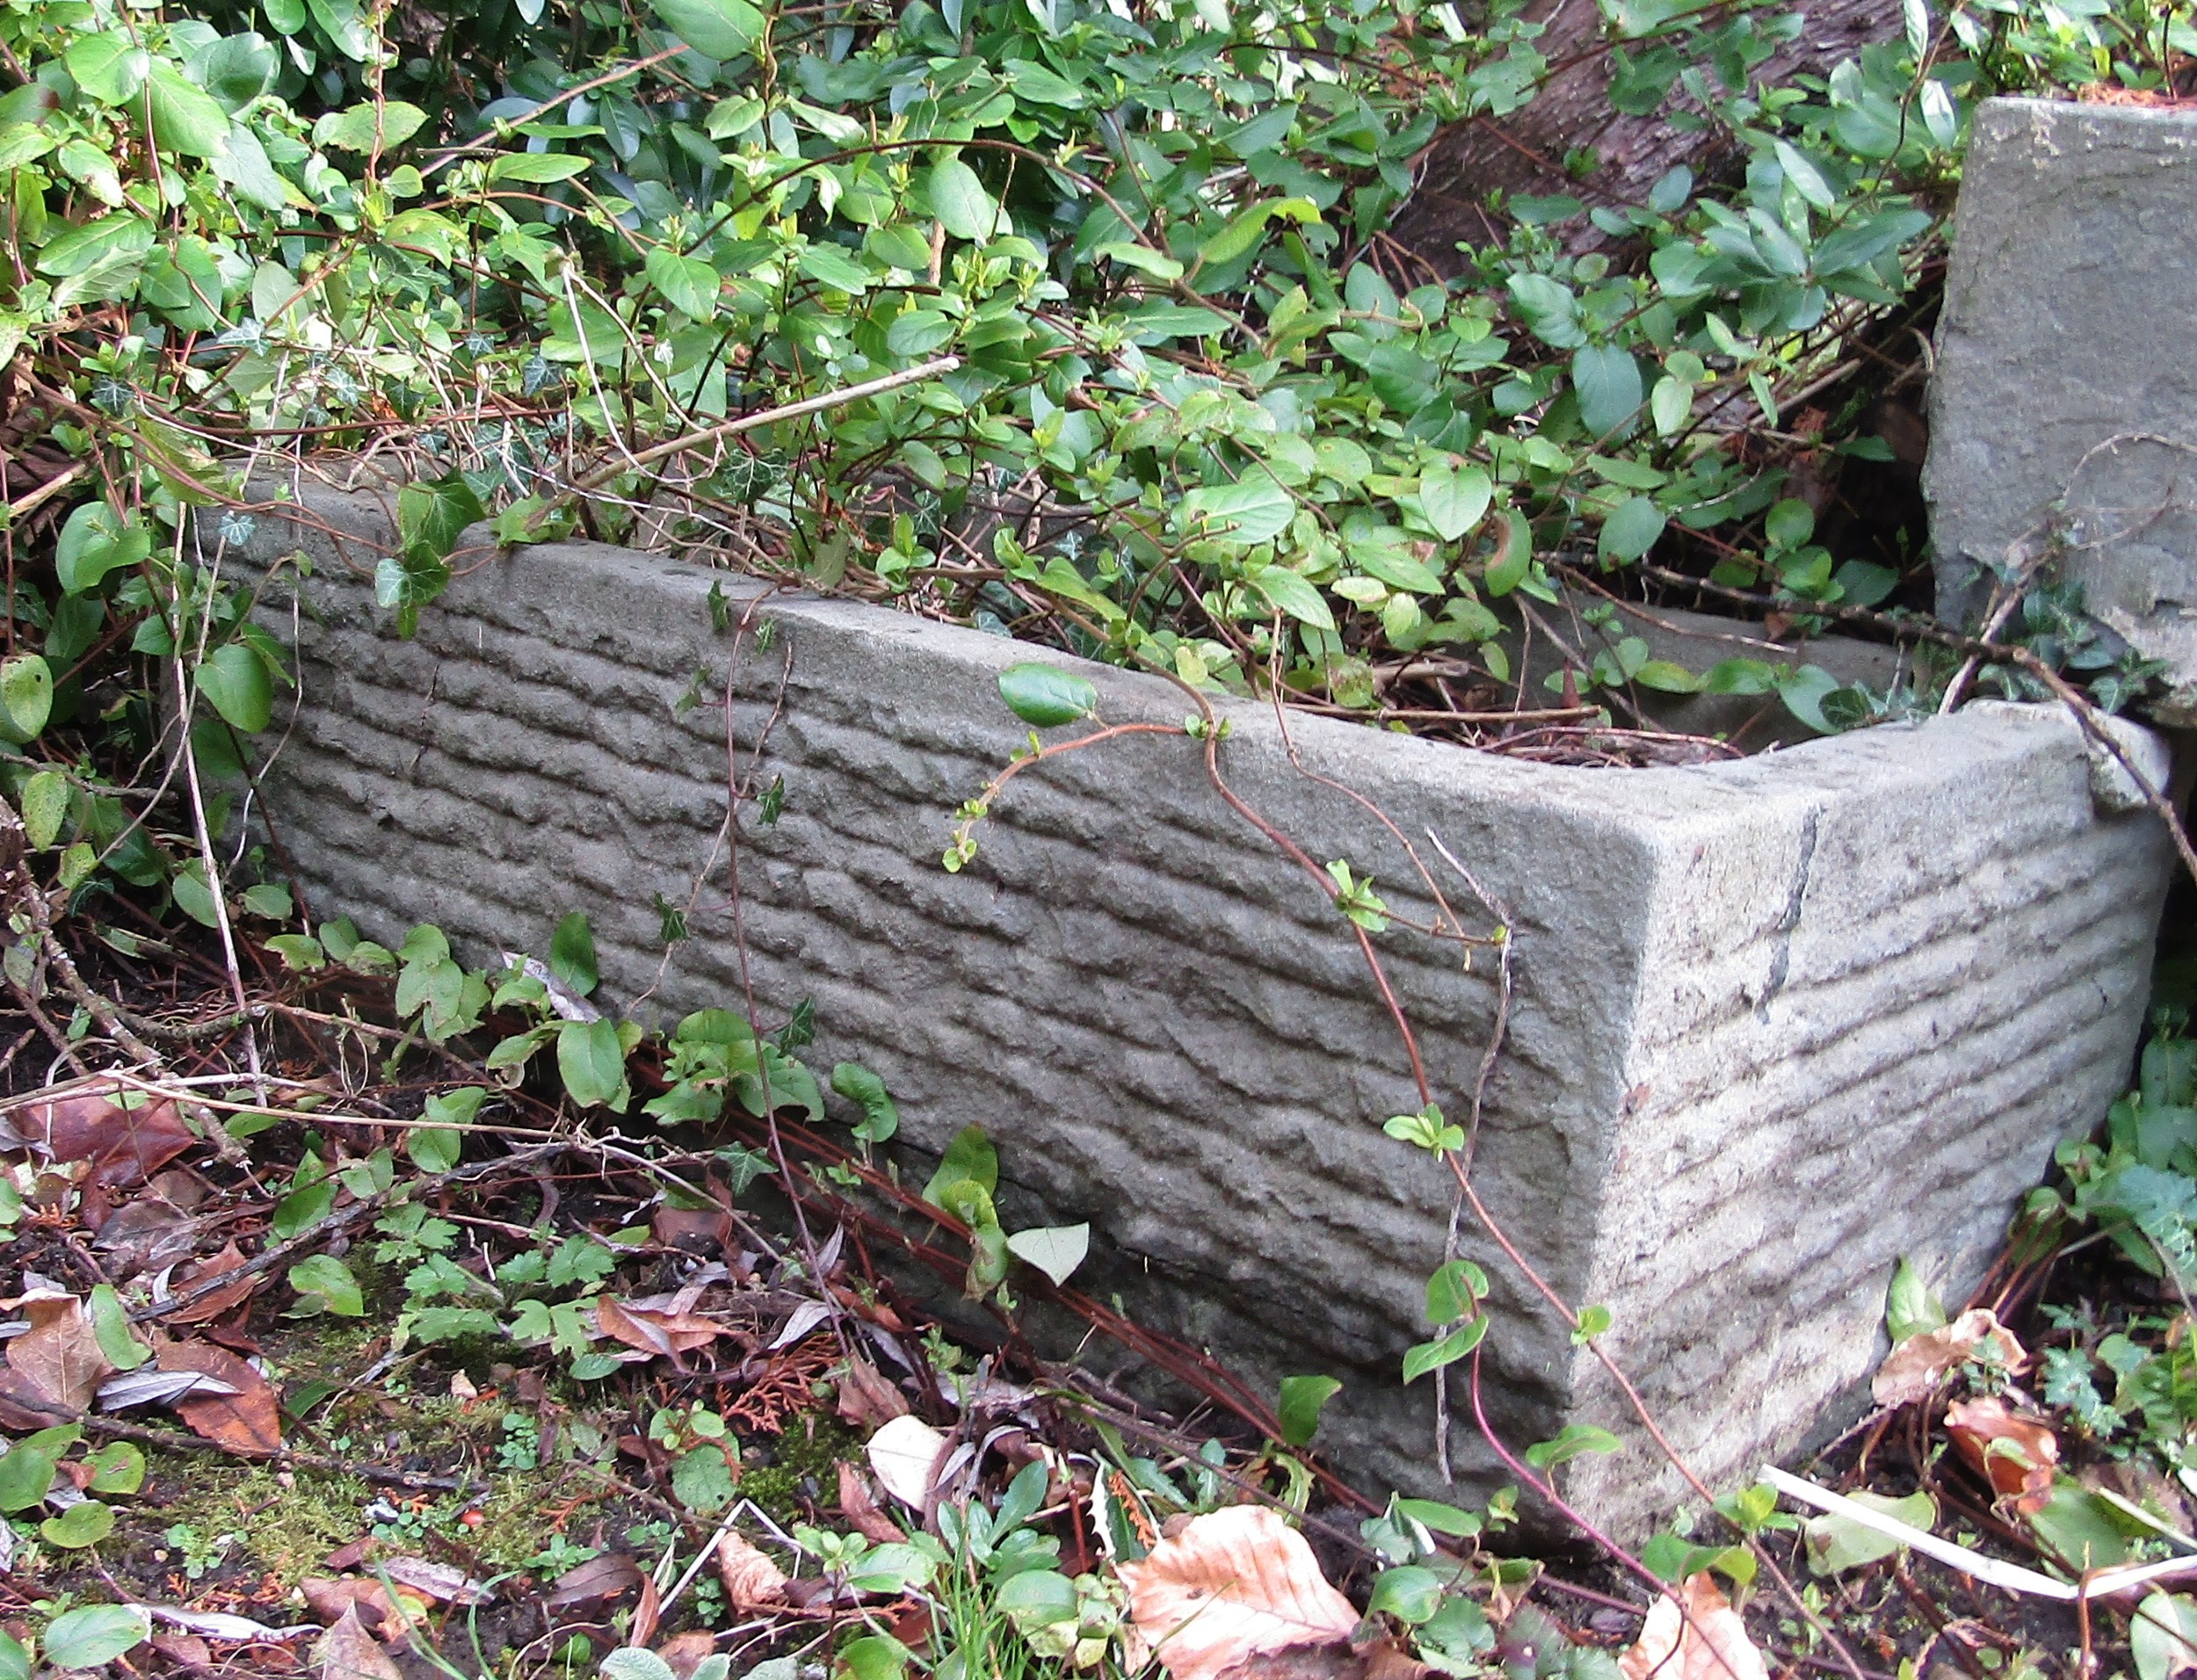
[[[2197,112],[1993,99],[1953,217],[1925,492],[1938,613],[2052,564],[2197,723]]]

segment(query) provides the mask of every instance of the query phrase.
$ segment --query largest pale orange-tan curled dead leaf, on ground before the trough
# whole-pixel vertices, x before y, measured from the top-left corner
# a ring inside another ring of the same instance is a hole
[[[1129,1619],[1173,1680],[1219,1680],[1250,1658],[1334,1645],[1358,1627],[1312,1546],[1263,1504],[1193,1517],[1120,1566]]]

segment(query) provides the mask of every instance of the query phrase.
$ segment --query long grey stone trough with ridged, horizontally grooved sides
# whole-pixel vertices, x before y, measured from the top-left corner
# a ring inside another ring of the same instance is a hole
[[[956,804],[1026,736],[995,676],[1030,648],[598,545],[481,564],[400,641],[369,586],[387,518],[305,501],[319,529],[261,514],[250,549],[314,558],[301,703],[264,775],[314,914],[382,938],[433,920],[481,960],[584,909],[609,1001],[734,1001],[729,690],[743,769],[760,740],[765,780],[784,775],[776,828],[740,810],[762,1006],[815,997],[815,1059],[877,1069],[914,1146],[991,1131],[1011,1228],[1090,1219],[1098,1289],[1261,1386],[1342,1377],[1323,1445],[1364,1482],[1439,1491],[1432,1386],[1404,1390],[1397,1364],[1426,1335],[1452,1181],[1380,1131],[1417,1098],[1349,927],[1215,797],[1197,744],[1134,736],[1019,775],[947,874]],[[776,626],[767,650],[734,661],[712,586]],[[1158,679],[1055,663],[1107,720],[1186,712]],[[1555,1289],[1615,1313],[1613,1346],[1711,1482],[1867,1375],[1898,1256],[1958,1298],[2129,1074],[2168,850],[2149,815],[2094,804],[2061,712],[1979,705],[1657,771],[1292,718],[1298,771],[1270,709],[1219,709],[1230,786],[1314,859],[1430,914],[1347,788],[1428,861],[1437,832],[1514,916],[1476,1181]],[[712,859],[666,957],[650,898],[683,903]],[[1373,942],[1463,1116],[1492,960]],[[1619,1528],[1685,1498],[1492,1245],[1468,1230],[1465,1250],[1496,1280],[1485,1388],[1509,1445],[1613,1427],[1624,1452],[1566,1476]],[[1459,1419],[1465,1474],[1505,1480]]]

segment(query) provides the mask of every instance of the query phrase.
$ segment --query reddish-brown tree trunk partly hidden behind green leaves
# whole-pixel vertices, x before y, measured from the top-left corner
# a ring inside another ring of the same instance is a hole
[[[1595,51],[1604,20],[1593,0],[1536,0],[1529,15],[1544,18],[1549,31],[1536,42],[1542,57],[1566,66],[1523,110],[1503,119],[1479,116],[1443,130],[1419,158],[1419,184],[1397,211],[1389,237],[1417,253],[1443,275],[1463,268],[1459,244],[1505,237],[1507,217],[1487,209],[1494,189],[1512,193],[1571,193],[1586,202],[1646,204],[1648,189],[1672,167],[1689,165],[1700,178],[1725,178],[1744,165],[1731,134],[1709,127],[1687,134],[1670,125],[1679,90],[1650,116],[1626,116],[1608,103],[1608,53]],[[1824,75],[1865,44],[1889,40],[1900,29],[1896,0],[1813,0],[1806,26],[1751,72],[1755,86],[1793,75]],[[1564,158],[1593,149],[1595,165],[1573,176]],[[1575,244],[1606,242],[1593,224],[1580,224]]]

